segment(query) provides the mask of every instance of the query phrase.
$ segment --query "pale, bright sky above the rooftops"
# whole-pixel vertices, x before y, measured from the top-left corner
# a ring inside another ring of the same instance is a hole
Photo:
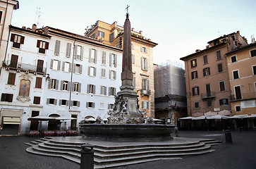
[[[255,0],[18,0],[11,25],[50,26],[84,35],[85,28],[97,20],[123,26],[126,6],[131,27],[158,45],[154,63],[183,65],[181,57],[205,49],[207,42],[232,32],[251,43],[256,37]],[[39,13],[40,11],[40,13]],[[39,15],[39,19],[38,16]]]

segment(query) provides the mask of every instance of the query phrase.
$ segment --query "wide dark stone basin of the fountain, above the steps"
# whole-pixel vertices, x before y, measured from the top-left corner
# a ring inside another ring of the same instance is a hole
[[[175,125],[81,124],[85,139],[106,141],[161,141],[173,139]]]

